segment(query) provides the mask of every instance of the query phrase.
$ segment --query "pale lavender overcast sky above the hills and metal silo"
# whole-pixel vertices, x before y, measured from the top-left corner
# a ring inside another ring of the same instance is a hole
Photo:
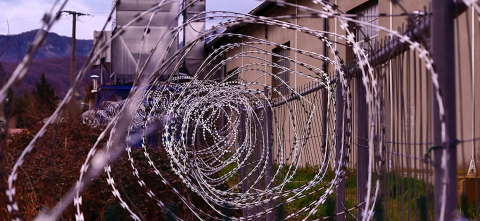
[[[40,19],[54,0],[0,0],[0,34],[18,34],[40,28]],[[207,0],[207,11],[226,10],[246,13],[260,4],[259,0]],[[92,39],[94,30],[101,30],[112,7],[112,0],[70,0],[65,10],[90,16],[77,19],[77,39]],[[7,26],[8,20],[8,26]],[[110,25],[107,26],[108,30]],[[53,32],[71,36],[72,16],[64,14]]]

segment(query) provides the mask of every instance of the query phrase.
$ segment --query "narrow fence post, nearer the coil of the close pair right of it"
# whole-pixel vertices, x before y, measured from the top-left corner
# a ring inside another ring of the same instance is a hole
[[[345,117],[345,108],[344,108],[344,100],[342,94],[342,83],[340,80],[336,82],[336,89],[335,89],[335,163],[336,167],[335,170],[340,170],[340,155],[342,152],[343,144],[344,144],[344,134],[343,134],[343,119]],[[345,157],[345,156],[343,156]],[[335,200],[335,213],[341,215],[336,215],[336,221],[343,221],[345,220],[345,177],[338,183],[337,188],[335,189],[336,193],[336,200]]]

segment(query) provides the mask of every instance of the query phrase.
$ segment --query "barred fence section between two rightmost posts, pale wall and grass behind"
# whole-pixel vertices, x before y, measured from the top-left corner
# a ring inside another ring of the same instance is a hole
[[[415,52],[407,50],[375,68],[375,74],[384,101],[385,133],[385,162],[377,168],[382,189],[379,210],[385,220],[432,219],[433,165],[429,155],[425,157],[433,144],[430,73]],[[362,139],[358,137],[359,142]]]

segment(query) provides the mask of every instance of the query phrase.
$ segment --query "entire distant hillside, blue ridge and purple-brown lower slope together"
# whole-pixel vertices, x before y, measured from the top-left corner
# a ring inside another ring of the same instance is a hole
[[[18,61],[21,61],[28,51],[28,47],[35,39],[38,30],[24,32],[18,35],[0,35],[0,62],[7,76],[10,76]],[[23,90],[31,91],[35,88],[42,73],[45,73],[47,81],[56,89],[60,97],[64,97],[70,86],[70,56],[72,38],[48,33],[45,44],[37,51],[34,61],[27,76],[18,88],[17,95]],[[92,50],[93,40],[77,40],[76,45],[76,70],[77,73],[85,63],[87,55]],[[2,53],[3,52],[3,53]],[[90,82],[92,74],[100,74],[100,69],[89,71],[82,81],[79,92],[84,93],[84,87]],[[4,76],[0,76],[1,79]]]

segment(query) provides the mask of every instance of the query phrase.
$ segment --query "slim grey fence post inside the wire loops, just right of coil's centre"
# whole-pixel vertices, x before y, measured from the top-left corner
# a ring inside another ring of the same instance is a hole
[[[265,142],[265,150],[263,151],[267,157],[265,162],[265,166],[267,167],[267,172],[265,174],[265,191],[271,188],[270,182],[273,178],[273,148],[272,148],[272,109],[268,104],[268,88],[265,87],[265,101],[263,102],[263,108],[265,111],[265,116],[263,119],[263,136]],[[273,200],[271,199],[273,196],[267,196],[270,200],[267,202],[266,209],[273,209]],[[266,221],[273,221],[273,211],[267,214]]]

